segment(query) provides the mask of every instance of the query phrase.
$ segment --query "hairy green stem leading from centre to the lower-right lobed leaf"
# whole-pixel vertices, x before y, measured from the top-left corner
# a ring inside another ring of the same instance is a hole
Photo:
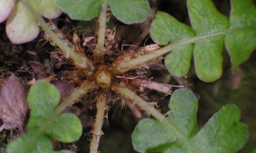
[[[143,110],[149,112],[152,116],[154,116],[159,122],[163,122],[165,125],[167,125],[176,135],[178,141],[184,142],[186,146],[193,152],[193,153],[199,153],[198,150],[192,146],[192,144],[189,142],[189,139],[187,136],[185,136],[182,132],[178,130],[178,128],[170,122],[163,114],[161,114],[159,111],[157,111],[152,105],[144,101],[142,98],[140,98],[137,94],[132,92],[131,90],[120,87],[120,86],[112,86],[111,89],[114,92],[120,93],[128,98],[130,98],[133,101],[136,101],[136,104],[140,106]]]

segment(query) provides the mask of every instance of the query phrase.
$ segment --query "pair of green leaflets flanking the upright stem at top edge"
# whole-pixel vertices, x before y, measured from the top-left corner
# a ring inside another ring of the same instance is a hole
[[[91,20],[100,13],[105,0],[57,0],[58,6],[74,20]],[[108,0],[113,15],[125,24],[141,23],[151,14],[147,0]]]

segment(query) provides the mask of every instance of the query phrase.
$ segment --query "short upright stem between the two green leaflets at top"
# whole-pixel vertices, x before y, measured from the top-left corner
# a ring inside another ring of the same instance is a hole
[[[105,44],[105,31],[106,31],[106,15],[107,15],[107,0],[104,1],[99,16],[99,31],[98,31],[98,50],[97,56],[102,57],[104,55]]]

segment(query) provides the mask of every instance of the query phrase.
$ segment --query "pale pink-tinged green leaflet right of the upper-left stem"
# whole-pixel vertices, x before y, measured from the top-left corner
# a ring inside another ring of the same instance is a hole
[[[29,2],[34,9],[48,19],[54,19],[62,13],[57,7],[56,0],[29,0]]]

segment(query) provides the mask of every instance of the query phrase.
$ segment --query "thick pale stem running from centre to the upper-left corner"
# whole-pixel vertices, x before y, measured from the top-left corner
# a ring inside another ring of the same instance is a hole
[[[77,52],[73,51],[69,46],[66,46],[64,42],[54,33],[47,23],[43,19],[43,17],[32,7],[32,5],[27,0],[21,0],[22,3],[27,7],[27,9],[31,12],[34,19],[39,22],[41,28],[49,35],[51,40],[65,53],[65,57],[70,57],[73,62],[80,68],[89,69],[92,65],[91,61]]]

